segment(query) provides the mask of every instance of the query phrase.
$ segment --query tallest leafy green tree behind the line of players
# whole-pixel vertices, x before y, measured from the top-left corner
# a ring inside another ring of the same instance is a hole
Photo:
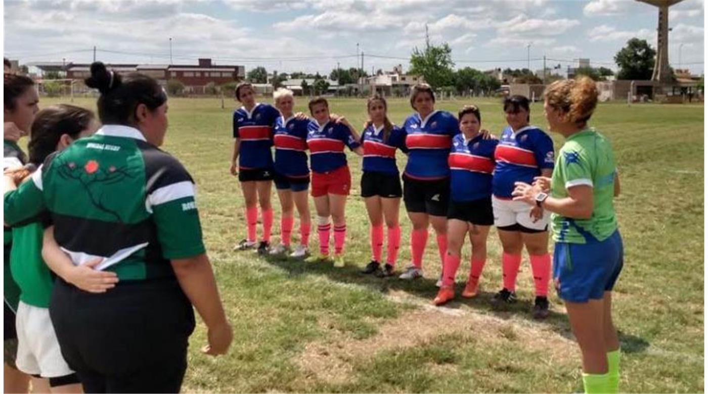
[[[447,43],[435,46],[428,42],[424,50],[418,50],[416,47],[411,54],[410,73],[422,75],[433,89],[450,86],[454,82],[455,75],[452,71],[455,63],[452,62],[451,54],[452,50]]]

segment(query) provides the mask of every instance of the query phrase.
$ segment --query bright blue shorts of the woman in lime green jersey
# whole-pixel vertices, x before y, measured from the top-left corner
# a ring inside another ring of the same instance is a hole
[[[564,301],[588,302],[611,291],[624,265],[622,237],[615,231],[605,241],[556,243],[553,279]]]

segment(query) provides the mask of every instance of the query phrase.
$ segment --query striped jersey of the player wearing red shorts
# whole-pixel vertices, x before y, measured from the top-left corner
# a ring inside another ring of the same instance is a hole
[[[310,167],[314,172],[329,173],[346,166],[344,146],[349,146],[349,149],[359,147],[349,127],[344,124],[327,122],[320,126],[314,120],[307,124],[307,148],[310,151]]]

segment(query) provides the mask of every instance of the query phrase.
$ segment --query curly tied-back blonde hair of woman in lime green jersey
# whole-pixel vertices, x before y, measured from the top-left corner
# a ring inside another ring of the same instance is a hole
[[[551,83],[543,96],[551,108],[566,113],[566,120],[582,126],[598,105],[598,87],[587,76]]]

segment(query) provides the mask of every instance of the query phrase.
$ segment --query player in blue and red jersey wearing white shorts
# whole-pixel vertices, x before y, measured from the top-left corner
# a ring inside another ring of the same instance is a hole
[[[548,253],[549,213],[514,201],[515,182],[532,183],[535,177],[550,177],[554,167],[553,140],[542,129],[530,126],[529,100],[513,95],[504,100],[508,126],[503,129],[494,158],[496,167],[492,181],[494,226],[498,229],[503,248],[503,289],[492,302],[495,305],[516,301],[516,275],[521,264],[524,245],[529,253],[534,277],[536,299],[534,318],[549,314],[547,299],[551,276],[551,256]]]

